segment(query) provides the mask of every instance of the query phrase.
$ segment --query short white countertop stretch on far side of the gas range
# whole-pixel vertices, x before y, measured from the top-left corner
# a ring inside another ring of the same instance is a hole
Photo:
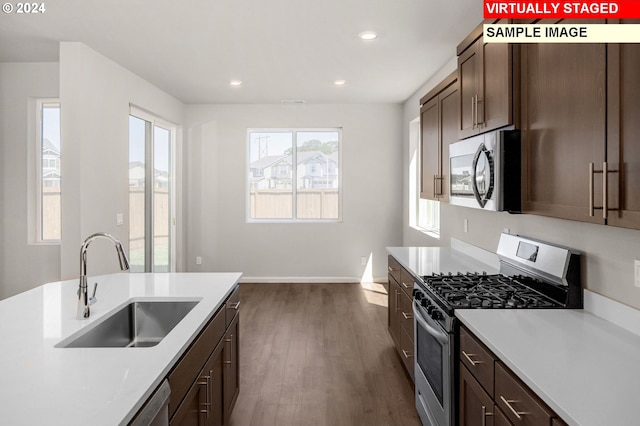
[[[387,253],[418,277],[448,272],[498,272],[460,251],[445,247],[387,247]]]

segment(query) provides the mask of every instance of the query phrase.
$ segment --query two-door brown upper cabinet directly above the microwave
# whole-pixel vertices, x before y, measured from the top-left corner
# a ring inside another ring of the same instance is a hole
[[[514,124],[517,52],[507,43],[484,43],[482,25],[458,45],[459,139]]]

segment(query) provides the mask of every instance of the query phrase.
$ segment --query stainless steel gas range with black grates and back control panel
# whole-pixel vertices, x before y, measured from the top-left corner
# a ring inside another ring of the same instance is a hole
[[[582,308],[580,254],[502,234],[500,273],[424,276],[413,288],[416,408],[423,425],[457,424],[456,309]]]

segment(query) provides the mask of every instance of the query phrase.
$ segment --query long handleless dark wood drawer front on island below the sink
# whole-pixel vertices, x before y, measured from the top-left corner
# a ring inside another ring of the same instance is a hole
[[[211,348],[216,347],[224,335],[224,330],[225,312],[224,309],[220,309],[169,373],[169,385],[171,386],[169,417],[173,416],[183,397],[198,378],[200,370],[211,354]]]

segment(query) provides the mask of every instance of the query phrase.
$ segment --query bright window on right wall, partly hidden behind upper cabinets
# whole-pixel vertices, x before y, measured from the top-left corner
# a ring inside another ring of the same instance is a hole
[[[409,226],[440,234],[440,202],[420,198],[420,118],[409,123]]]

